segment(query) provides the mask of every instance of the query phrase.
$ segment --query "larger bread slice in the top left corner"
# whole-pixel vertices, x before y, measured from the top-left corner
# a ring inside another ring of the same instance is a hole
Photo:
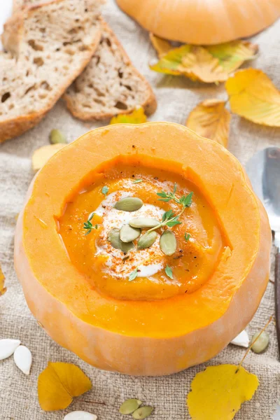
[[[83,71],[101,36],[103,0],[23,7],[6,22],[0,52],[0,142],[34,127]]]

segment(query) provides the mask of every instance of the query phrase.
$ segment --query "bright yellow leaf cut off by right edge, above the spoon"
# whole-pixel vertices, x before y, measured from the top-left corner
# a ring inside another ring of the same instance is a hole
[[[253,123],[280,127],[280,92],[261,70],[239,70],[225,88],[232,112]]]

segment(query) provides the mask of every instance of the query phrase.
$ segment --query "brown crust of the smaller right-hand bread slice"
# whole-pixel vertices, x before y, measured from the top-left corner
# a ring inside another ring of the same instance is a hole
[[[146,80],[146,78],[144,78],[144,76],[133,66],[130,57],[128,57],[127,53],[125,52],[123,45],[121,45],[120,41],[118,41],[118,38],[116,37],[116,35],[114,34],[113,30],[111,29],[111,27],[109,27],[109,25],[102,19],[100,18],[102,23],[101,23],[101,27],[102,27],[102,33],[106,32],[107,34],[109,34],[109,36],[111,36],[111,38],[113,38],[114,43],[116,43],[116,45],[118,45],[118,48],[121,52],[121,54],[123,55],[123,59],[124,62],[127,66],[131,66],[134,74],[137,75],[139,78],[141,78],[141,81],[144,83],[145,87],[146,87],[146,92],[148,92],[148,97],[146,99],[146,101],[144,103],[141,104],[141,106],[143,107],[145,113],[147,116],[150,116],[151,114],[153,114],[155,112],[155,110],[157,109],[157,101],[155,99],[155,94],[151,88],[151,85],[148,83],[148,81]],[[109,118],[112,118],[113,116],[116,115],[116,113],[113,112],[102,112],[102,113],[92,113],[92,112],[85,112],[83,110],[77,109],[75,104],[73,103],[73,100],[71,98],[71,94],[67,94],[67,92],[63,95],[63,99],[66,102],[66,106],[69,109],[69,111],[71,112],[71,114],[76,117],[79,118],[80,120],[92,120],[92,121],[99,121],[99,120],[107,120]],[[135,109],[135,107],[130,108],[130,109],[125,109],[125,110],[120,110],[120,112],[118,112],[118,114],[125,114],[125,113],[130,113],[133,111],[133,109]]]

